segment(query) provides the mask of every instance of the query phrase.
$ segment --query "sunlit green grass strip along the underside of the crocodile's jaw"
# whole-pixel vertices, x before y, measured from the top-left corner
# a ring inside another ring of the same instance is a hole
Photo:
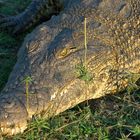
[[[139,102],[137,93],[91,100],[49,120],[34,118],[13,140],[139,140]]]

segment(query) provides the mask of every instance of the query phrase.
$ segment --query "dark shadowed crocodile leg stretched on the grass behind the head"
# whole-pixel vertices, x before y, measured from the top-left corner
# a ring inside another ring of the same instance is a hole
[[[37,24],[42,18],[49,19],[62,7],[63,0],[33,0],[19,15],[2,18],[0,28],[2,30],[10,29],[13,34],[17,34]]]

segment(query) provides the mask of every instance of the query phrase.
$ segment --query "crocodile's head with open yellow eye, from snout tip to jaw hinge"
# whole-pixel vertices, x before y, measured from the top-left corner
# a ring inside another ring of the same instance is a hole
[[[112,59],[109,47],[95,47],[91,41],[85,50],[84,35],[71,29],[59,31],[49,43],[48,32],[49,27],[42,25],[26,37],[19,50],[17,63],[0,97],[2,134],[22,132],[35,114],[45,112],[50,117],[104,94],[101,91]],[[28,85],[26,77],[32,79]]]

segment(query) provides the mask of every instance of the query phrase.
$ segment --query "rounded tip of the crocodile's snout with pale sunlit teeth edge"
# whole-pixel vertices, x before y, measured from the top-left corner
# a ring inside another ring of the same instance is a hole
[[[14,135],[27,128],[27,110],[22,102],[13,94],[0,97],[0,133]]]

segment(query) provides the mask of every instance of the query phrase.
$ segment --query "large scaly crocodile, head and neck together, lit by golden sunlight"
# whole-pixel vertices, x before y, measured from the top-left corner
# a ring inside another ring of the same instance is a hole
[[[29,33],[0,94],[1,135],[22,133],[34,115],[49,118],[125,90],[140,73],[139,6],[74,0]]]

